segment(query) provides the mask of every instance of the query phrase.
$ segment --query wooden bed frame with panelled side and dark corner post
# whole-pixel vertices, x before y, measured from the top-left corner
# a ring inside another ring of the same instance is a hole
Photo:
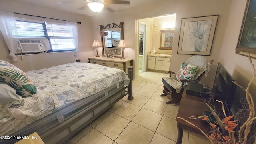
[[[120,82],[119,88],[113,85],[107,90],[98,92],[96,100],[90,101],[90,98],[87,97],[68,104],[64,108],[18,130],[12,136],[28,136],[37,132],[46,144],[64,143],[127,94],[128,100],[133,99],[132,66],[128,67],[128,77],[130,79],[128,86],[124,86],[124,82]],[[90,102],[88,103],[88,101]],[[17,141],[19,140],[13,139],[0,141],[0,143],[13,144]]]

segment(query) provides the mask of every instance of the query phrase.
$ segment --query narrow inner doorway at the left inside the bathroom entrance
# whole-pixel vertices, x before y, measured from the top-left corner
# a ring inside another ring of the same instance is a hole
[[[145,48],[146,48],[146,30],[147,25],[139,22],[139,75],[145,72]]]

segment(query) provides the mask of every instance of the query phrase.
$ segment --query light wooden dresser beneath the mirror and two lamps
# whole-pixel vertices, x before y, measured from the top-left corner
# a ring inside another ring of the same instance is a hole
[[[107,57],[89,57],[88,58],[90,63],[93,64],[100,64],[102,66],[108,66],[111,68],[118,68],[120,70],[124,70],[126,74],[128,74],[127,67],[133,66],[133,59],[132,58],[125,58],[121,60],[120,58],[107,58]]]

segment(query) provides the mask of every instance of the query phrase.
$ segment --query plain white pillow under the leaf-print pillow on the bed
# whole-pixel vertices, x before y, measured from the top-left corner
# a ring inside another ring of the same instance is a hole
[[[20,100],[20,96],[16,94],[16,90],[5,82],[0,82],[0,103],[5,104],[16,100]]]

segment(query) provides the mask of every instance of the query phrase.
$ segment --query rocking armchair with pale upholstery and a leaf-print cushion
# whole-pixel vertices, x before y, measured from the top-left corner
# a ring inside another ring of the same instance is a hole
[[[170,101],[166,104],[179,103],[187,82],[199,82],[207,75],[213,60],[207,62],[203,56],[192,56],[187,62],[182,62],[177,73],[169,71],[170,77],[163,77],[164,90],[161,96],[167,96]],[[171,77],[174,74],[174,78]]]

